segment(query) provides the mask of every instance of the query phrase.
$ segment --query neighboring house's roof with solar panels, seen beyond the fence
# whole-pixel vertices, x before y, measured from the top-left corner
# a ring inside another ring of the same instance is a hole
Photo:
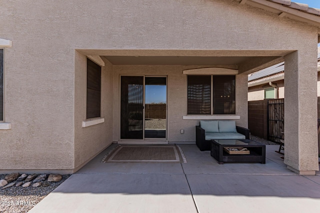
[[[317,71],[320,71],[320,47],[318,47]],[[248,75],[248,87],[284,79],[284,62]]]

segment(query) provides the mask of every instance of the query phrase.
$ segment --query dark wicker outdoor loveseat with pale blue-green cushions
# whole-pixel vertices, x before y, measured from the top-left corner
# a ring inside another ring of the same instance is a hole
[[[235,121],[200,121],[200,125],[195,126],[196,146],[200,151],[208,151],[212,139],[250,139],[250,130],[235,126]]]

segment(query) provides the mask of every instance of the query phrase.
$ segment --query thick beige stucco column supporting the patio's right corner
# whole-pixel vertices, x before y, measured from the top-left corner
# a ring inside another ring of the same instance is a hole
[[[300,175],[318,171],[316,51],[284,56],[284,163]]]

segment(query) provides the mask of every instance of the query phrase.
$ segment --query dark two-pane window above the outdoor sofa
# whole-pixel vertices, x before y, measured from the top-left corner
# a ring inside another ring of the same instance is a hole
[[[187,114],[235,114],[235,76],[188,75]]]

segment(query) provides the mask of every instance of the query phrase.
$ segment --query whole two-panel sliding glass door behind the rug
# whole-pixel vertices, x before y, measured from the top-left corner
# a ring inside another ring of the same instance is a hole
[[[120,139],[166,138],[166,77],[121,76]]]

